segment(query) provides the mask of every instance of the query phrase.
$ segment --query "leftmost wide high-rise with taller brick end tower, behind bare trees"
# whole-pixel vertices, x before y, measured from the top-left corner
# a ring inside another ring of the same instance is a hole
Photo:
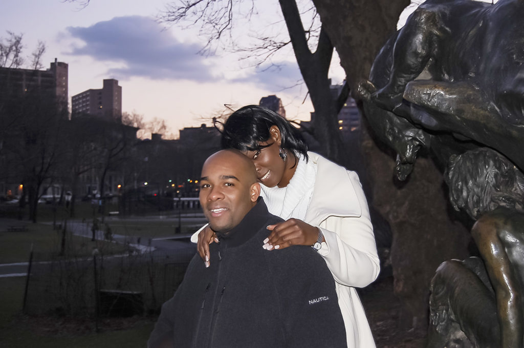
[[[67,63],[56,58],[46,70],[0,68],[0,99],[43,93],[56,98],[62,110],[67,110],[68,70]]]

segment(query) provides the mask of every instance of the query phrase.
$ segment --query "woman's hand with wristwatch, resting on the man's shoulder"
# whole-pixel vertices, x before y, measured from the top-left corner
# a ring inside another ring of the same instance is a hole
[[[267,229],[272,231],[269,237],[264,239],[265,244],[262,246],[267,250],[284,249],[292,245],[313,245],[319,238],[318,228],[299,219],[269,225]]]

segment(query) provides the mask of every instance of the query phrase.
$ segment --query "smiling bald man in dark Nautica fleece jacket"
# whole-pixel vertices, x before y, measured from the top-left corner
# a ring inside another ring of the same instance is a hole
[[[307,246],[260,247],[266,227],[282,219],[259,198],[252,161],[219,151],[204,163],[200,183],[200,204],[220,241],[210,245],[217,261],[206,267],[195,255],[148,347],[345,347],[322,257]]]

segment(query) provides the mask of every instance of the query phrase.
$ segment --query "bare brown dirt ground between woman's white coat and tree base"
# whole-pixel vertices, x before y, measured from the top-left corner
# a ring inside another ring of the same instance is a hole
[[[393,278],[371,284],[361,292],[361,300],[377,348],[424,348],[425,329],[402,329],[400,300],[393,294]]]

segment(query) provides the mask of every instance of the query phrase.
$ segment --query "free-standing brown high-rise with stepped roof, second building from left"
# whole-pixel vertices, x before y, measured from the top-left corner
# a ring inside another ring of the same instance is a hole
[[[122,122],[122,87],[118,80],[104,79],[102,89],[88,89],[71,98],[71,117],[92,115]]]

